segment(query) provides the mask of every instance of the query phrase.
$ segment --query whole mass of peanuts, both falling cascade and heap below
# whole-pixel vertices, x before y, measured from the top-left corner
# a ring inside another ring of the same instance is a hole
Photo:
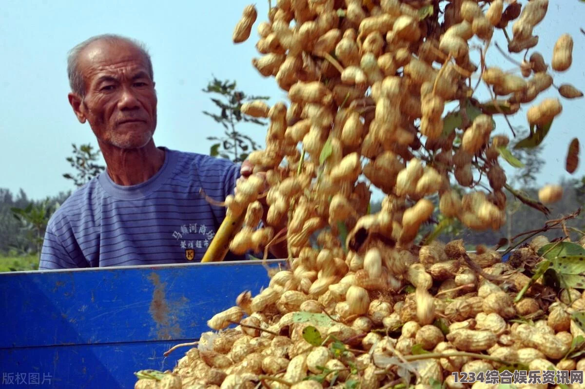
[[[551,291],[539,281],[515,303],[530,279],[497,251],[467,254],[461,241],[415,244],[435,210],[433,196],[444,216],[472,230],[504,226],[500,156],[510,139],[493,134],[493,117],[518,112],[553,86],[542,54],[528,53],[547,9],[548,0],[278,0],[257,26],[261,56],[252,64],[275,77],[290,104],[241,107],[270,120],[266,148],[249,156],[267,172],[269,190],[261,194],[264,181],[253,175],[225,205],[245,217],[231,251],[265,251],[285,239],[289,266],[271,274],[260,294],[243,292],[213,316],[214,340],[135,388],[430,389],[438,381],[476,389],[491,385],[459,383],[452,373],[507,363],[583,370],[585,362],[566,357],[574,337],[585,335],[570,316],[585,308],[579,291]],[[250,37],[256,19],[246,6],[234,43]],[[494,34],[504,36],[509,25],[508,51],[525,52],[519,75],[485,63]],[[572,38],[561,35],[552,70],[569,69],[572,51]],[[479,83],[492,100],[473,98]],[[583,96],[570,84],[558,92]],[[460,124],[449,128],[444,111],[453,103]],[[481,112],[469,117],[470,104]],[[561,112],[560,99],[550,97],[526,118],[541,127]],[[374,214],[372,186],[385,195]],[[558,186],[539,191],[542,203],[561,197]],[[534,262],[545,243],[534,238],[514,255]],[[322,343],[309,342],[308,331]]]

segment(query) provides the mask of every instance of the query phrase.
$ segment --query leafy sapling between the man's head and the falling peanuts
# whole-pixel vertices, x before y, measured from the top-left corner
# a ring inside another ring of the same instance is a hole
[[[236,81],[220,81],[215,77],[203,91],[205,93],[219,95],[222,98],[220,100],[219,98],[211,97],[211,101],[219,108],[219,114],[212,114],[208,111],[203,111],[203,113],[212,117],[216,122],[221,123],[225,129],[225,136],[207,138],[209,141],[217,142],[211,145],[209,154],[211,156],[219,155],[221,158],[230,159],[236,163],[245,161],[249,153],[259,149],[260,146],[249,136],[236,131],[236,124],[243,121],[257,125],[266,125],[266,122],[243,114],[240,108],[245,101],[269,100],[270,97],[247,96],[242,91],[236,89]]]

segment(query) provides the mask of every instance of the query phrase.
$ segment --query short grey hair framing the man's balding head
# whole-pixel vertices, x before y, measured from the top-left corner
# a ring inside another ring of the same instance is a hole
[[[84,74],[82,73],[81,62],[87,62],[92,60],[99,60],[99,53],[103,53],[104,47],[107,46],[126,46],[128,47],[129,55],[131,52],[138,52],[144,57],[146,68],[149,72],[151,80],[154,80],[154,72],[152,68],[152,61],[150,54],[147,52],[146,47],[137,40],[130,39],[128,37],[104,34],[92,36],[84,42],[81,42],[77,46],[70,50],[67,57],[67,74],[69,77],[69,85],[71,91],[83,97],[85,95],[85,80]]]

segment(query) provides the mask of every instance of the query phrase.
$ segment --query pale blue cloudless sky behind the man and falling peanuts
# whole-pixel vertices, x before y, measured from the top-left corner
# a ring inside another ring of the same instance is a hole
[[[276,0],[273,0],[276,3]],[[522,1],[524,3],[525,1]],[[88,124],[80,124],[67,102],[67,51],[87,37],[119,33],[142,40],[152,54],[154,79],[159,96],[157,145],[184,151],[208,153],[205,139],[222,127],[202,114],[214,110],[209,95],[201,91],[215,75],[236,80],[248,94],[269,95],[270,103],[283,100],[284,91],[273,78],[264,78],[252,66],[260,56],[254,45],[256,27],[267,20],[268,2],[257,2],[258,20],[249,40],[232,43],[233,28],[247,1],[99,1],[73,2],[4,0],[0,6],[0,187],[13,192],[20,188],[33,199],[74,189],[62,177],[72,168],[65,160],[71,144],[97,145]],[[572,83],[585,89],[583,43],[585,5],[577,0],[550,0],[549,12],[535,33],[538,49],[550,63],[557,37],[570,33],[574,38],[573,66],[562,74],[553,73],[556,84]],[[511,31],[511,27],[508,28]],[[494,38],[503,42],[496,33]],[[516,58],[521,56],[515,56]],[[511,70],[495,47],[488,64]],[[482,90],[480,88],[480,90]],[[480,96],[487,97],[485,88]],[[550,88],[537,98],[556,97]],[[570,139],[583,137],[585,99],[562,99],[563,112],[553,124],[544,156],[545,169],[539,183],[557,182],[565,172],[565,154]],[[512,125],[525,125],[525,110],[511,118]],[[505,122],[497,121],[496,132],[510,134]],[[264,144],[266,128],[241,128]],[[510,134],[511,135],[511,134]],[[582,153],[583,154],[583,153]],[[583,155],[585,159],[585,155]],[[505,164],[505,162],[503,162]],[[507,169],[508,170],[508,169]],[[574,176],[585,174],[581,163]]]

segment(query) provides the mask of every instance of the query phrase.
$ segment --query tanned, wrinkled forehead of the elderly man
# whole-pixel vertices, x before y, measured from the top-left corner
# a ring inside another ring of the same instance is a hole
[[[79,67],[87,81],[104,74],[132,77],[149,73],[146,56],[125,42],[92,43],[80,53]]]

